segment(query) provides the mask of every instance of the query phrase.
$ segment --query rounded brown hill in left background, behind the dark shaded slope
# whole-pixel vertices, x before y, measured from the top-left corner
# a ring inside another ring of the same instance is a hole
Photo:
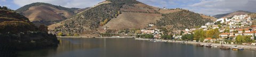
[[[65,20],[71,17],[75,14],[74,11],[76,10],[78,9],[66,8],[48,3],[32,3],[22,6],[16,11],[22,15],[25,15],[29,21],[49,25],[49,23],[58,22],[60,20]]]

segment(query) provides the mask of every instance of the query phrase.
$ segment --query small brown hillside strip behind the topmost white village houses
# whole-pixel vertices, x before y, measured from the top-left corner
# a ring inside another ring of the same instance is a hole
[[[232,12],[232,13],[225,13],[225,14],[217,14],[214,15],[213,17],[215,18],[232,18],[234,15],[241,15],[241,14],[249,14],[252,12],[248,12],[248,11],[236,11],[236,12]]]

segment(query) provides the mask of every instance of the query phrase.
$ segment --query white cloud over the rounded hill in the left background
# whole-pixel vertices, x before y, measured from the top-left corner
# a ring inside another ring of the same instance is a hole
[[[77,8],[91,7],[103,1],[105,0],[13,0],[13,2],[19,6],[24,6],[24,5],[36,3],[36,2],[43,2],[43,3],[50,3],[53,5],[60,5],[64,7],[77,7]]]

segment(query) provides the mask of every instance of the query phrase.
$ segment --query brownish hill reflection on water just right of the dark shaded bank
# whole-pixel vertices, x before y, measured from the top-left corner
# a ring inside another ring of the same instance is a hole
[[[66,52],[74,50],[88,50],[99,47],[97,40],[81,39],[81,38],[61,38],[61,43],[57,48],[57,52]]]

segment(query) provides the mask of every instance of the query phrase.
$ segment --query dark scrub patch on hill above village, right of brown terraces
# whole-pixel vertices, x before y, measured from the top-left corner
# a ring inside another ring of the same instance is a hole
[[[204,19],[200,14],[182,10],[175,13],[163,14],[161,20],[157,21],[157,26],[173,25],[171,30],[175,29],[191,29],[195,26],[203,26],[207,22],[213,22],[210,19]]]

